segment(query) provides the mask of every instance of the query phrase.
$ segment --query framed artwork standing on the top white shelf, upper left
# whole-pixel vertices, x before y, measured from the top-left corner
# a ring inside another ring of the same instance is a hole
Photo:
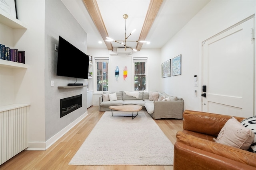
[[[0,0],[0,11],[18,19],[16,10],[16,0]]]

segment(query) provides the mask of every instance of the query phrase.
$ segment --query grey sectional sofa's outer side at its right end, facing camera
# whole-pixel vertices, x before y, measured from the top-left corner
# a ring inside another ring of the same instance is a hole
[[[154,119],[175,118],[182,119],[183,100],[155,101]]]

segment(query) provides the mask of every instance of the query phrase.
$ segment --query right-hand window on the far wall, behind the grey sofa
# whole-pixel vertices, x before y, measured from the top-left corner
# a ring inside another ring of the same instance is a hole
[[[147,89],[146,63],[147,58],[134,58],[134,90],[144,91]]]

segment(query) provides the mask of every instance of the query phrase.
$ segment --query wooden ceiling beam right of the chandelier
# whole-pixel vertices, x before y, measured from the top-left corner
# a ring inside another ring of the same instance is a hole
[[[163,0],[150,0],[150,4],[148,6],[148,12],[146,14],[146,18],[144,21],[144,24],[142,26],[142,30],[140,33],[140,37],[138,40],[145,41],[148,32],[150,31],[150,28],[156,18],[156,15],[160,9],[160,6],[162,4]],[[143,43],[137,43],[136,50],[140,51]]]

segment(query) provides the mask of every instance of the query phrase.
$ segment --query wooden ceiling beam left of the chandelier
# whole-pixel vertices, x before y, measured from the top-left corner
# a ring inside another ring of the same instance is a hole
[[[100,14],[100,9],[98,7],[96,0],[84,0],[84,4],[94,21],[94,24],[98,28],[98,31],[100,32],[100,35],[102,36],[102,39],[106,39],[108,37],[108,31],[105,27],[104,21],[102,19],[102,16]],[[106,46],[108,47],[108,50],[113,50],[113,46],[110,41],[104,41]]]

